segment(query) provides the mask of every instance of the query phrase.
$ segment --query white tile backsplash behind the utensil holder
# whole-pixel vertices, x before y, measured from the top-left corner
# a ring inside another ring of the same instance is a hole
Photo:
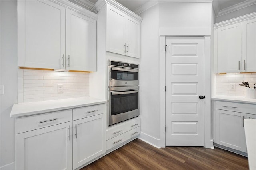
[[[256,73],[216,74],[216,95],[245,96],[246,87],[239,86],[243,81],[253,87]],[[230,83],[235,84],[235,90],[230,90]]]

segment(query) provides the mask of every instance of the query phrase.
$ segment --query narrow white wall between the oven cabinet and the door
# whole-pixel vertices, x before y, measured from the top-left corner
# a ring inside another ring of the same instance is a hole
[[[160,140],[159,7],[142,12],[140,59],[140,138],[156,145]]]

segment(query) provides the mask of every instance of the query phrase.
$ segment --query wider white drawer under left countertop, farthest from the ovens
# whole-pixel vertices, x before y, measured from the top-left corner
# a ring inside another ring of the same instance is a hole
[[[16,119],[16,133],[32,131],[60,123],[72,121],[72,110],[62,110]]]

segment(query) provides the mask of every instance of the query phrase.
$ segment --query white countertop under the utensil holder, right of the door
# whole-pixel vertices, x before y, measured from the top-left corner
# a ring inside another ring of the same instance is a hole
[[[240,97],[240,96],[216,95],[216,96],[212,97],[212,100],[222,100],[222,101],[227,101],[227,102],[240,102],[240,103],[256,104],[256,99],[245,98],[245,97]]]

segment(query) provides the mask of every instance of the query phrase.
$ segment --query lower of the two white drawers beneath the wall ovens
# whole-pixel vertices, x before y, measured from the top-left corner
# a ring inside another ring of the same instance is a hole
[[[137,135],[140,134],[140,126],[136,127],[135,129],[132,129],[126,133],[123,133],[121,135],[118,135],[117,137],[114,137],[112,139],[109,139],[107,141],[107,150],[114,148],[122,143],[124,143],[125,141],[127,141],[128,139],[131,139],[133,137],[136,137]]]

